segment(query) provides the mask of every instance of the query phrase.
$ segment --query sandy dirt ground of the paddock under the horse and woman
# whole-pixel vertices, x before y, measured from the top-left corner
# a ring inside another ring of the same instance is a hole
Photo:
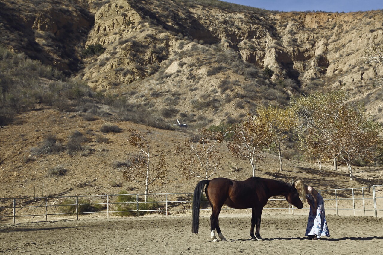
[[[249,215],[223,215],[227,241],[212,242],[208,214],[199,234],[190,216],[92,218],[0,226],[0,253],[23,254],[376,254],[383,247],[383,218],[327,215],[331,237],[304,237],[306,215],[263,214],[260,234],[250,240]]]

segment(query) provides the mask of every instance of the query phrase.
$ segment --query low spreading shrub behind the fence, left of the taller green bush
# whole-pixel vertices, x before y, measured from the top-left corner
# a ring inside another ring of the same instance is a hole
[[[105,209],[105,204],[101,204],[98,201],[95,201],[95,204],[92,203],[88,198],[79,198],[79,213],[84,212],[97,212]],[[75,198],[66,198],[59,205],[59,212],[66,214],[75,214],[76,213],[76,199]]]

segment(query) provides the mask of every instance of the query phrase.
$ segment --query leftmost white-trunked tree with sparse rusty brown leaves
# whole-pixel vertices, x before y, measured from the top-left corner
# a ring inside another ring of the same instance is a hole
[[[168,165],[165,163],[165,157],[162,151],[156,158],[156,164],[152,166],[151,150],[149,145],[148,133],[143,133],[135,129],[129,129],[131,136],[128,141],[134,147],[137,147],[141,154],[135,154],[128,160],[128,165],[123,167],[123,177],[128,181],[134,181],[145,187],[145,202],[149,186],[157,180],[166,180]]]

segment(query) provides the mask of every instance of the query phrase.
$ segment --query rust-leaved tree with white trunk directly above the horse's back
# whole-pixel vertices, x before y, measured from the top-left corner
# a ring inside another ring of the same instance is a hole
[[[272,142],[273,137],[269,126],[254,116],[235,125],[231,132],[234,135],[228,144],[229,150],[234,156],[249,161],[254,177],[255,163],[262,159],[259,155],[260,150]]]

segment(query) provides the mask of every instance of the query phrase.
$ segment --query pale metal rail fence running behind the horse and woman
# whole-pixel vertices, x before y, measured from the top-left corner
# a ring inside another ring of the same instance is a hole
[[[325,200],[326,214],[383,217],[383,185],[362,188],[318,190]],[[377,194],[381,194],[378,196]],[[0,221],[19,217],[72,217],[87,214],[135,216],[147,213],[169,214],[191,211],[193,193],[116,194],[87,196],[54,196],[36,198],[0,198]],[[307,203],[306,203],[307,205]],[[228,207],[223,210],[233,210]],[[307,208],[306,208],[307,209]],[[201,210],[210,210],[208,201],[201,201]],[[289,214],[306,214],[296,210],[286,199],[273,197],[264,208]]]

